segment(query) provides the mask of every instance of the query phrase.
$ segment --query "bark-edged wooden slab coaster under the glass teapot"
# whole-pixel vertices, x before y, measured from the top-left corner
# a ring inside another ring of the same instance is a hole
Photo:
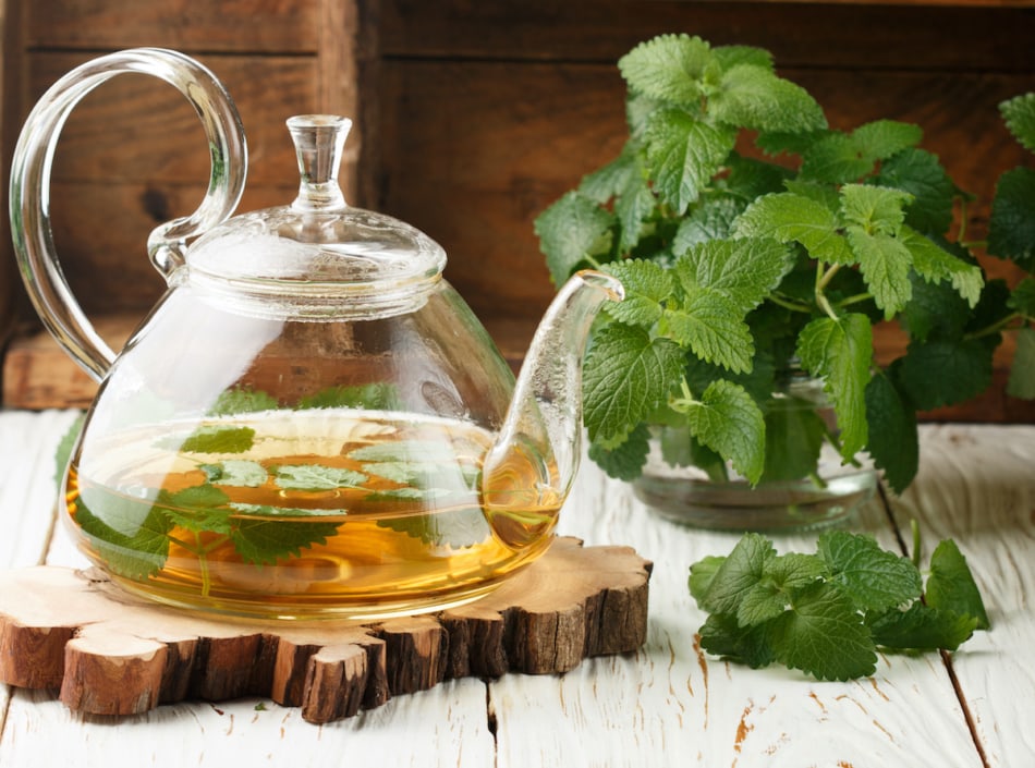
[[[560,673],[635,650],[650,569],[629,547],[558,538],[476,602],[363,624],[221,620],[125,595],[97,570],[11,570],[0,572],[0,682],[59,690],[94,715],[269,696],[330,722],[451,678]]]

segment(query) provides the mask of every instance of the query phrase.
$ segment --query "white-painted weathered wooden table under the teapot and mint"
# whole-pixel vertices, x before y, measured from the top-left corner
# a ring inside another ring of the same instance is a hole
[[[0,568],[84,562],[52,512],[54,446],[73,415],[0,412]],[[909,492],[890,510],[874,501],[852,527],[897,547],[915,519],[929,547],[957,540],[993,630],[951,659],[884,656],[873,679],[820,683],[707,657],[687,568],[738,536],[655,517],[587,462],[561,532],[654,560],[638,653],[564,676],[453,681],[319,727],[263,699],[114,719],[0,687],[0,767],[1035,766],[1035,427],[924,426],[922,441]],[[776,543],[811,550],[814,535]]]

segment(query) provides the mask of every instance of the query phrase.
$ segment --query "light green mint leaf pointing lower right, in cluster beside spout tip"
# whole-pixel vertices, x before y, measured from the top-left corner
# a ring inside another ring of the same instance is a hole
[[[726,295],[698,290],[682,307],[666,309],[663,332],[708,363],[734,373],[751,370],[755,353],[743,313]]]

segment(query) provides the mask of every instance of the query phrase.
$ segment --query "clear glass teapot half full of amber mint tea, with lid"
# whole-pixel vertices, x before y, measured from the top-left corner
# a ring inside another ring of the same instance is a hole
[[[148,239],[168,291],[115,355],[62,276],[48,205],[65,118],[123,72],[193,103],[211,180],[195,214]],[[442,278],[442,248],[345,203],[350,121],[288,127],[297,197],[229,218],[245,137],[193,59],[101,57],[29,115],[11,179],[16,255],[45,325],[100,382],[63,480],[64,519],[114,582],[170,605],[358,619],[461,605],[548,548],[580,458],[589,326],[621,284],[573,277],[515,382]]]

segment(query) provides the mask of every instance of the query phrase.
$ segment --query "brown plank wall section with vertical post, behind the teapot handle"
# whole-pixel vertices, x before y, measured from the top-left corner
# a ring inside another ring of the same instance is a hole
[[[181,50],[226,84],[241,112],[251,155],[241,210],[284,205],[297,192],[287,118],[356,112],[363,42],[360,7],[352,0],[8,2],[14,13],[3,57],[9,75],[5,166],[24,118],[58,77],[124,48]],[[353,196],[361,146],[358,126],[342,173]],[[208,174],[202,126],[169,85],[122,75],[80,103],[58,145],[51,212],[65,275],[88,313],[138,318],[154,304],[163,284],[147,260],[147,234],[158,223],[193,211]],[[0,275],[10,289],[16,275],[7,236],[3,264]],[[22,297],[23,319],[33,317],[26,304]]]

